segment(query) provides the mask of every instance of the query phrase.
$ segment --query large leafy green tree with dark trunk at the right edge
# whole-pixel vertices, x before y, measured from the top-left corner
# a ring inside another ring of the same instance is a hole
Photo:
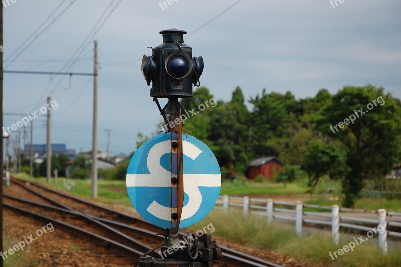
[[[367,108],[369,103],[371,110]],[[337,126],[345,119],[348,125]],[[352,207],[359,197],[364,179],[384,176],[401,159],[401,108],[391,94],[384,94],[383,88],[344,87],[322,111],[317,126],[347,148],[350,171],[343,179],[343,204],[347,207]]]

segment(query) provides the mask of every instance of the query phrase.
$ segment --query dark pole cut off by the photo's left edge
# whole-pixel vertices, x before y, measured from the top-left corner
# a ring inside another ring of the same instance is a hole
[[[3,127],[3,5],[0,5],[0,126]],[[2,170],[2,182],[0,183],[0,249],[3,251],[3,132],[0,151],[2,151],[0,153],[0,170]],[[0,260],[0,267],[3,267],[3,260]]]

